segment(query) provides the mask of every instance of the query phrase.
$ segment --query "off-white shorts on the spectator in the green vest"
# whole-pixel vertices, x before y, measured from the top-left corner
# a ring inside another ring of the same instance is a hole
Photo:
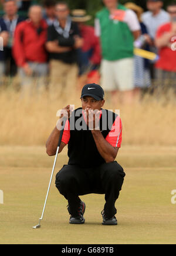
[[[101,62],[101,87],[104,91],[131,91],[134,89],[134,59]]]

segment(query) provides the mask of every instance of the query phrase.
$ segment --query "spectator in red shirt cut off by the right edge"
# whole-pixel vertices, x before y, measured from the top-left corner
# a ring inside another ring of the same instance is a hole
[[[156,78],[163,89],[174,88],[176,92],[176,3],[168,5],[167,11],[171,21],[160,26],[155,39],[160,56],[155,65]]]

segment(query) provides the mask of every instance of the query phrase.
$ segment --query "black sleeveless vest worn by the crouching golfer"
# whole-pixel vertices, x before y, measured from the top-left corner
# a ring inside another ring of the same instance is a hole
[[[77,112],[78,111],[78,112]],[[104,139],[113,127],[114,121],[118,117],[115,113],[107,109],[101,109],[102,115],[99,122],[101,134]],[[104,120],[104,124],[103,124]],[[70,139],[68,144],[69,165],[78,165],[82,168],[98,167],[105,163],[97,150],[92,131],[87,127],[82,114],[82,108],[76,109],[69,118]],[[77,129],[80,124],[81,129]]]

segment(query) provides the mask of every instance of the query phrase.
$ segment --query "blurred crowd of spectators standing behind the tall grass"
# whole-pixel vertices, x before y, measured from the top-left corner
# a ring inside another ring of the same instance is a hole
[[[70,11],[67,2],[1,0],[0,85],[19,75],[21,90],[65,88],[100,83],[110,97],[131,102],[141,89],[176,91],[176,2],[147,0],[147,12],[132,2],[103,0],[94,28],[85,10]],[[21,9],[28,17],[18,15]],[[154,52],[154,61],[134,56],[134,48]],[[49,79],[48,79],[49,78]],[[119,96],[120,95],[120,96]]]

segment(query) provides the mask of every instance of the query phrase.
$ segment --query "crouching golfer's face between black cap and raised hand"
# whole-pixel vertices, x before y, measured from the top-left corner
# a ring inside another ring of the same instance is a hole
[[[104,99],[102,101],[96,101],[93,97],[83,97],[82,98],[82,108],[86,109],[93,109],[93,110],[100,110],[104,106]]]

